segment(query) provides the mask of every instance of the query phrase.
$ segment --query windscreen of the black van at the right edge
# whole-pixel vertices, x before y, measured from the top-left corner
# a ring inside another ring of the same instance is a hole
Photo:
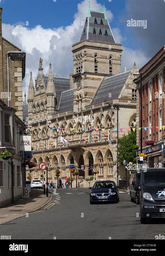
[[[165,171],[143,172],[143,185],[146,187],[164,187]]]

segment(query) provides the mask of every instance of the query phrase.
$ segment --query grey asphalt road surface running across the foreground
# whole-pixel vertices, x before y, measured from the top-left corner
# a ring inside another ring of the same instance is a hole
[[[140,239],[165,236],[165,220],[140,223],[139,205],[128,191],[119,191],[120,202],[89,204],[88,188],[51,190],[52,201],[39,211],[1,224],[0,235],[11,239]]]

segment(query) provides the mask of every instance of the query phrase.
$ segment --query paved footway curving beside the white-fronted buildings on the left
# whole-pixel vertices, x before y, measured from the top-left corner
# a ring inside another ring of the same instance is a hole
[[[31,189],[30,198],[19,199],[13,204],[0,208],[0,224],[25,216],[26,213],[38,211],[46,206],[53,198],[43,194],[43,190]]]

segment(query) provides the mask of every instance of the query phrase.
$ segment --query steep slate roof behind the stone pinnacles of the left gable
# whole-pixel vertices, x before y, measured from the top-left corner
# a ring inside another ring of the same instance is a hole
[[[48,76],[43,75],[43,80],[44,80],[45,86],[47,88]],[[54,86],[55,86],[56,100],[57,100],[56,101],[56,108],[58,108],[61,93],[63,91],[66,91],[66,90],[70,89],[70,79],[69,78],[64,78],[64,77],[54,77]]]

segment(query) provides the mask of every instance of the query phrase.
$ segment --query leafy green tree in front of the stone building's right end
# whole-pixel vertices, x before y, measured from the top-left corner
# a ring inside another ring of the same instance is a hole
[[[126,160],[127,163],[132,162],[136,163],[136,149],[139,146],[136,145],[136,133],[129,132],[127,135],[123,135],[122,138],[118,139],[118,162],[123,164],[123,161]]]

